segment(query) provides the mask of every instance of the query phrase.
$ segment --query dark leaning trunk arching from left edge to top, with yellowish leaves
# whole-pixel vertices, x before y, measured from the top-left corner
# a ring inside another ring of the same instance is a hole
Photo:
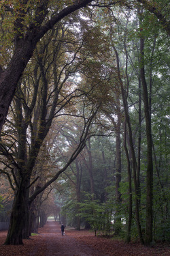
[[[10,35],[9,45],[14,48],[10,53],[10,59],[7,59],[7,67],[3,62],[0,70],[0,131],[5,122],[18,81],[33,55],[37,42],[65,16],[83,8],[91,1],[76,1],[67,7],[65,7],[67,1],[63,4],[54,4],[57,13],[52,10],[52,3],[48,0],[31,3],[31,6],[29,6],[29,1],[16,1],[14,5],[6,5],[4,2],[0,2],[3,15],[2,25],[5,26],[6,19],[8,19],[5,12],[10,13],[10,26],[12,27],[10,33],[12,35]],[[48,16],[50,16],[49,19]],[[14,42],[14,46],[12,42]]]

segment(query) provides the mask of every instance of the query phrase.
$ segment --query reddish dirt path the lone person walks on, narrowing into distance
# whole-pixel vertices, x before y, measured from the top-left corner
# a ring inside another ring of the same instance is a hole
[[[61,236],[60,225],[54,223],[54,221],[48,221],[42,231],[43,233],[40,236],[44,243],[44,249],[46,250],[44,251],[44,256],[107,256],[102,251],[97,251],[91,246],[68,236],[67,229],[65,230],[65,236]],[[39,251],[39,249],[36,251]],[[31,256],[37,256],[37,253],[35,252]]]

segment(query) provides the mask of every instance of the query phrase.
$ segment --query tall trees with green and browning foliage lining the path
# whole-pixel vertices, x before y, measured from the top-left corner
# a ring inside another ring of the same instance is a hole
[[[90,2],[1,4],[2,124],[17,85],[1,132],[1,175],[14,190],[5,244],[35,230],[42,193],[54,185],[69,186],[78,229],[86,192],[92,216],[98,206],[104,216],[100,228],[114,218],[120,235],[125,219],[129,242],[133,227],[141,243],[153,230],[167,238],[167,4],[160,20],[160,1],[154,10],[147,1],[97,1],[67,17]]]

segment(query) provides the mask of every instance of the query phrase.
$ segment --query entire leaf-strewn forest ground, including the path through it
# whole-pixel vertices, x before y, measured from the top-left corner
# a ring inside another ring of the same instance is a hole
[[[67,227],[61,236],[60,225],[54,221],[41,229],[39,234],[24,240],[24,245],[5,246],[7,231],[0,231],[0,256],[169,256],[169,244],[154,247],[138,243],[95,237],[94,233],[76,231]]]

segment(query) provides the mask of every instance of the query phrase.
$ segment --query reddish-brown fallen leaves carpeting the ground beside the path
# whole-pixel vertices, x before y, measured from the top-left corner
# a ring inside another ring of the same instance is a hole
[[[54,237],[54,241],[56,240],[56,230],[58,230],[58,236],[61,238],[60,226],[58,223],[54,223],[52,227],[50,227],[50,223],[47,223],[44,228],[39,229],[40,234],[37,236],[33,236],[29,240],[24,240],[24,245],[19,246],[4,246],[3,242],[5,242],[5,237],[7,232],[0,231],[0,255],[1,256],[46,256],[48,253],[48,244],[46,244],[46,238],[49,236]],[[65,230],[66,236],[63,239],[59,239],[57,244],[58,248],[62,250],[61,255],[65,255],[65,246],[63,243],[66,242],[67,239],[74,238],[78,242],[80,242],[80,246],[86,245],[87,248],[92,248],[96,253],[99,251],[103,252],[105,256],[169,256],[170,255],[170,247],[169,244],[157,244],[154,247],[142,246],[139,243],[131,243],[126,244],[124,241],[112,240],[107,238],[95,237],[94,233],[82,230],[76,231],[74,229],[69,229],[68,227]],[[71,241],[74,241],[71,240]],[[51,240],[52,242],[53,240]],[[54,246],[54,249],[56,247]],[[52,253],[52,246],[50,245],[50,255]],[[55,252],[54,252],[55,253]],[[68,253],[68,252],[67,252]],[[54,254],[55,255],[55,254]],[[67,254],[68,255],[68,254]],[[91,255],[92,254],[88,254]],[[98,254],[93,254],[98,255]],[[70,244],[70,256],[73,256],[71,253],[71,244]]]

